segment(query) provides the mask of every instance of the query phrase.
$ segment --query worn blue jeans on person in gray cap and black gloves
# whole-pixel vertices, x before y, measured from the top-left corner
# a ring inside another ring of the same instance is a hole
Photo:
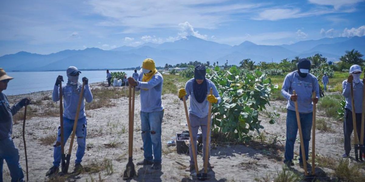
[[[74,120],[68,119],[64,117],[64,145],[67,142],[67,139],[70,137],[73,129]],[[86,128],[87,121],[86,117],[78,119],[77,127],[76,127],[76,141],[77,141],[77,152],[76,152],[76,160],[75,164],[79,164],[82,161],[82,157],[85,154],[86,147]],[[65,152],[67,152],[69,146],[65,146]],[[58,136],[56,144],[54,145],[53,150],[53,166],[58,167],[61,163],[61,128],[58,127]]]

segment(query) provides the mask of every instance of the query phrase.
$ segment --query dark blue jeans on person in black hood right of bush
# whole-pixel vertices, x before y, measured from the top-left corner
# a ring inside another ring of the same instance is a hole
[[[303,134],[304,151],[306,159],[308,160],[308,147],[311,140],[313,113],[299,113],[301,132]],[[296,120],[295,111],[289,110],[287,112],[287,141],[285,143],[284,162],[292,161],[294,157],[294,143],[298,132],[298,124]],[[301,148],[299,148],[299,162],[303,162]]]

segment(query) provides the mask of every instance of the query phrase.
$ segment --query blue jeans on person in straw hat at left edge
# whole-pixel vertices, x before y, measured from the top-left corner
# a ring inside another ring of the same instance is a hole
[[[19,164],[19,151],[16,149],[11,137],[0,140],[0,182],[3,182],[4,159],[8,164],[11,181],[23,181],[24,174]]]

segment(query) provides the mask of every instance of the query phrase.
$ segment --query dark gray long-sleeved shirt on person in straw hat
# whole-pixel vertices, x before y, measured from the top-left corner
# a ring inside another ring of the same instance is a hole
[[[8,98],[5,94],[0,92],[0,140],[9,138],[12,134],[13,116],[19,109],[22,108],[20,104],[15,104],[10,107]]]

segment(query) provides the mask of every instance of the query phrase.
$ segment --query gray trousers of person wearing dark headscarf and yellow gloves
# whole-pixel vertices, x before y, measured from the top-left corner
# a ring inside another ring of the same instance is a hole
[[[198,116],[194,115],[194,114],[189,114],[189,120],[190,120],[190,125],[191,125],[191,132],[193,135],[193,141],[194,141],[194,147],[195,147],[195,154],[197,155],[197,135],[198,135],[198,130],[199,127],[201,127],[201,135],[203,137],[203,163],[205,161],[205,147],[207,145],[207,124],[208,124],[208,116],[205,118],[199,118]],[[212,133],[210,133],[211,135]],[[209,162],[209,158],[210,158],[210,135],[209,135],[209,151],[208,151],[208,162]],[[191,143],[189,145],[189,153],[190,153],[190,165],[194,165],[194,158],[193,158],[193,150],[192,150],[192,146]]]

